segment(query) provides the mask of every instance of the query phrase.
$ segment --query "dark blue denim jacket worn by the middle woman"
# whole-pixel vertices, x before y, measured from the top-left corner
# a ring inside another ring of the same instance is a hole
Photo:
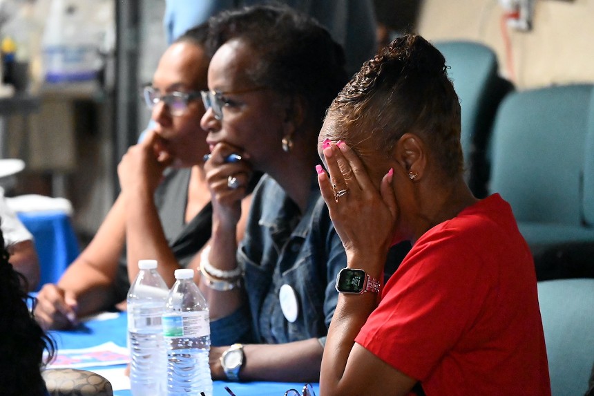
[[[227,344],[309,338],[325,342],[338,301],[336,274],[346,266],[347,258],[314,176],[303,215],[274,179],[262,177],[253,192],[237,257],[245,271],[247,307],[213,321],[211,334],[227,334]],[[298,314],[292,323],[280,308],[279,291],[285,284],[297,297]]]

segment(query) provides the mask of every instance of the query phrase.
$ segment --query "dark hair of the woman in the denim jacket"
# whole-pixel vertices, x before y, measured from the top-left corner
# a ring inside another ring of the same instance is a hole
[[[258,86],[300,95],[320,126],[325,111],[347,82],[340,44],[315,19],[278,3],[227,10],[209,21],[212,56],[231,39],[245,41],[260,64],[249,70]]]

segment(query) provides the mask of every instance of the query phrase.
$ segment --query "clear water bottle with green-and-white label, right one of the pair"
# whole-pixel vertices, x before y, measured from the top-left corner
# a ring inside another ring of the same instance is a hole
[[[209,308],[193,278],[192,269],[175,270],[163,315],[169,396],[213,394]]]

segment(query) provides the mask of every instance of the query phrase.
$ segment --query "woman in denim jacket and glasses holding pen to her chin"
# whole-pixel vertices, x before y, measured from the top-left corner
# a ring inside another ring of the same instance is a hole
[[[227,323],[243,342],[211,348],[211,373],[317,381],[345,252],[317,187],[316,138],[347,80],[343,50],[313,19],[285,6],[223,12],[210,28],[202,128],[211,149],[204,168],[213,232],[200,287],[211,323]],[[241,159],[226,160],[233,154]],[[265,175],[238,247],[240,202],[253,171]]]

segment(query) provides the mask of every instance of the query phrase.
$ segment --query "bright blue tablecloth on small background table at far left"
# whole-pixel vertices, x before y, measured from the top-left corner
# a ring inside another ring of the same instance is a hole
[[[78,240],[64,211],[19,212],[17,216],[35,238],[41,267],[41,281],[36,290],[39,291],[46,283],[56,283],[77,258]]]

